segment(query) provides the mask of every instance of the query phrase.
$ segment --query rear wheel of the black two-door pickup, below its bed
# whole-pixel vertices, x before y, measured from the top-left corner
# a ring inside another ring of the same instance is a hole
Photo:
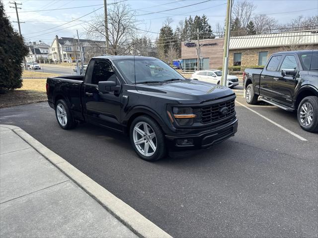
[[[63,99],[56,102],[55,116],[59,125],[63,129],[72,129],[77,125],[77,122],[74,120],[66,101]]]

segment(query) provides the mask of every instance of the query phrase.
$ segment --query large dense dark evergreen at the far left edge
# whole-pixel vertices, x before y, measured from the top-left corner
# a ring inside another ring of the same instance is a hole
[[[0,92],[22,86],[21,63],[27,54],[23,38],[13,30],[0,0]]]

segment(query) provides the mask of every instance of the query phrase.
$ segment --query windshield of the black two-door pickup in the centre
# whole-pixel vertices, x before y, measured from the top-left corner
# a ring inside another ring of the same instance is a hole
[[[163,82],[168,80],[183,80],[177,71],[161,60],[114,60],[125,79],[130,83]]]

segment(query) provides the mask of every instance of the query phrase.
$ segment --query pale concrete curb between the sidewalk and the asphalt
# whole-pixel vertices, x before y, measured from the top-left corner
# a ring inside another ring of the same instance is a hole
[[[13,125],[3,125],[13,130],[18,136],[30,144],[36,151],[42,154],[49,162],[55,165],[66,176],[76,182],[84,191],[92,196],[104,208],[112,213],[118,220],[125,224],[131,231],[141,238],[172,238],[169,234],[161,230],[153,222],[149,221],[128,204],[114,196],[104,187],[80,172],[66,160],[53,151],[45,147],[31,135],[20,127]]]

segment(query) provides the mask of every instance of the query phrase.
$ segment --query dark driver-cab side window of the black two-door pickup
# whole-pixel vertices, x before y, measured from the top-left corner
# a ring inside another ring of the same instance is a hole
[[[95,61],[91,84],[98,85],[99,81],[116,81],[116,74],[110,63],[105,61]]]

